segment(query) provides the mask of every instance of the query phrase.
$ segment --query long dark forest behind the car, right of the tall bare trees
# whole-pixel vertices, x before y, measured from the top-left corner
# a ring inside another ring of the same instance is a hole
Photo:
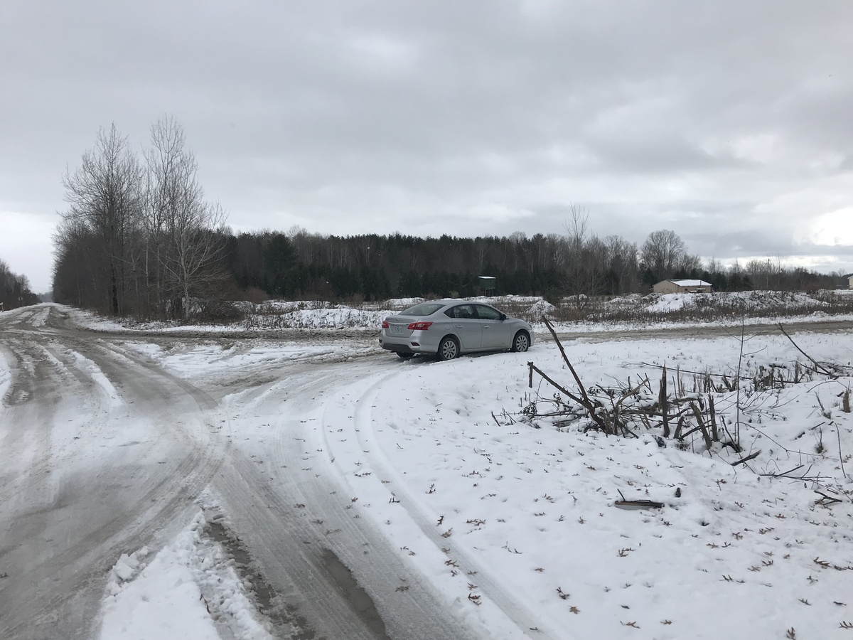
[[[700,278],[717,291],[816,290],[840,286],[840,274],[787,268],[773,259],[724,267],[688,253],[671,230],[638,247],[620,236],[586,232],[572,212],[566,234],[511,236],[321,236],[293,228],[225,239],[227,269],[255,296],[310,300],[385,300],[479,294],[477,276],[496,278],[495,294],[564,296],[647,293],[665,278]]]

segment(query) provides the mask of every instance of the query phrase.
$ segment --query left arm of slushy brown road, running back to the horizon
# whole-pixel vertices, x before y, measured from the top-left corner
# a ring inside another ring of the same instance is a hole
[[[3,317],[0,637],[89,637],[119,554],[183,527],[223,459],[204,393],[61,327]]]

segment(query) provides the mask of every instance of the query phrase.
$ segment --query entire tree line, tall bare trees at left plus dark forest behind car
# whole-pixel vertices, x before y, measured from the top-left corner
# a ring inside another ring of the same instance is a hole
[[[480,293],[477,276],[496,278],[494,294],[551,301],[647,293],[671,277],[701,278],[718,291],[842,283],[840,274],[778,259],[703,262],[672,230],[653,231],[641,245],[600,238],[588,230],[588,213],[572,205],[565,232],[547,236],[322,236],[298,227],[235,235],[223,208],[206,200],[183,129],[171,118],[152,126],[141,157],[114,125],[99,131],[63,184],[68,207],[54,234],[54,299],[116,316],[222,316],[233,310],[229,300],[471,296]],[[3,280],[3,269],[0,294],[16,300],[26,281]]]

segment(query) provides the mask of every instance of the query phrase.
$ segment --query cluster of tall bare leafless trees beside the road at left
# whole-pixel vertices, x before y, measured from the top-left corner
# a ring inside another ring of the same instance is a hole
[[[225,214],[207,201],[174,119],[151,127],[140,158],[113,125],[62,183],[54,299],[114,316],[189,317],[221,298]]]

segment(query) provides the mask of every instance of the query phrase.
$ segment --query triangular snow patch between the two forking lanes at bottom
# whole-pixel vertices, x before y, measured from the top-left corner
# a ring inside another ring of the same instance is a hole
[[[204,536],[199,513],[148,561],[148,549],[122,554],[110,572],[101,640],[272,638],[221,544]]]

